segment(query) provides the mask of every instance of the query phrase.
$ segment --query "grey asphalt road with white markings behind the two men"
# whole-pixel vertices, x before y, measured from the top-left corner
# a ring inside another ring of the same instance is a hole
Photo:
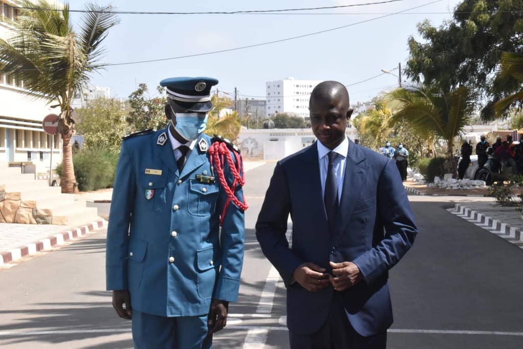
[[[215,348],[287,348],[285,289],[254,236],[274,163],[247,172],[240,299]],[[419,235],[391,271],[389,348],[521,348],[523,251],[416,197]],[[104,207],[106,209],[107,207]],[[0,347],[130,348],[105,289],[105,231],[0,270]],[[306,306],[306,305],[304,305]],[[263,345],[265,343],[265,346]]]

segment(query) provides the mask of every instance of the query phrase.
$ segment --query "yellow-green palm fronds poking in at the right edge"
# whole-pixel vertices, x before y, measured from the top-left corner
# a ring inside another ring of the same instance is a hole
[[[499,77],[512,76],[523,83],[523,54],[503,52],[501,54],[501,65],[499,67]],[[510,95],[494,105],[496,116],[502,116],[516,102],[523,100],[523,89]]]

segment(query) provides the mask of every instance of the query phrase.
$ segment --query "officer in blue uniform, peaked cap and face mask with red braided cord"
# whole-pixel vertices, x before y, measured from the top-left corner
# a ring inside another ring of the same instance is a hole
[[[241,187],[230,186],[233,176],[241,182],[240,157],[229,142],[202,133],[216,84],[209,77],[163,80],[169,126],[122,142],[107,230],[107,289],[118,315],[132,318],[136,348],[211,347],[238,296],[246,206]],[[217,149],[222,153],[211,164]],[[237,168],[217,162],[222,155]]]

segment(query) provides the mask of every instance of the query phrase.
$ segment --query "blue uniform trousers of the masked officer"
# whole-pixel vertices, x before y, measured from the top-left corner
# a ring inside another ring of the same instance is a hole
[[[210,349],[208,315],[167,318],[132,310],[132,339],[136,349]]]

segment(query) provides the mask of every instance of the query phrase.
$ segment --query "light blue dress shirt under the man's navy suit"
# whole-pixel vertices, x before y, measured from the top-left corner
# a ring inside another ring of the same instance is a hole
[[[328,170],[328,153],[330,149],[325,147],[322,142],[317,141],[318,147],[318,162],[320,164],[320,181],[322,183],[322,197],[325,197],[325,181]],[[344,141],[339,144],[332,151],[337,153],[334,160],[334,172],[336,173],[336,184],[338,188],[338,204],[342,199],[343,179],[345,177],[345,164],[347,162],[347,151],[349,150],[349,140],[345,137]]]

